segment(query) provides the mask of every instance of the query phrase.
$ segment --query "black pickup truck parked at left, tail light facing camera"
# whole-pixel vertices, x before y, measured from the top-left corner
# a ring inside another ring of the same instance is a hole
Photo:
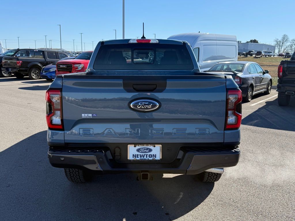
[[[15,77],[30,79],[40,78],[42,67],[50,65],[64,57],[69,57],[64,52],[52,50],[27,50],[27,56],[4,57],[2,59],[2,70],[12,72]]]

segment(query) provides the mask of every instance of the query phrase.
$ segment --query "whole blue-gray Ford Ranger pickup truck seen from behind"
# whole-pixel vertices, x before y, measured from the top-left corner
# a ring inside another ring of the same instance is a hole
[[[48,158],[72,182],[93,174],[196,175],[216,182],[240,157],[242,93],[202,73],[188,42],[101,41],[86,72],[46,92]]]

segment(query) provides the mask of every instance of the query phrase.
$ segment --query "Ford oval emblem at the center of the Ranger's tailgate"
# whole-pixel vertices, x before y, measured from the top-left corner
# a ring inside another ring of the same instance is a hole
[[[136,99],[129,103],[129,107],[138,112],[152,112],[160,108],[160,102],[150,99]]]

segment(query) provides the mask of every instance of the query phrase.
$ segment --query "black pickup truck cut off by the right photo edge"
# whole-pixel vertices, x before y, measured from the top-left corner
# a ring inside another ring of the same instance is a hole
[[[278,66],[278,105],[288,106],[295,95],[295,52],[290,60],[281,61]]]

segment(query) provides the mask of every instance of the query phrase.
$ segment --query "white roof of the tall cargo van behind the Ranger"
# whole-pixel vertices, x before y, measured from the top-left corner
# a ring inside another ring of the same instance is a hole
[[[191,46],[194,46],[196,42],[204,41],[204,40],[219,40],[219,41],[237,41],[237,37],[235,35],[226,35],[226,34],[209,34],[209,33],[182,33],[175,34],[168,37],[168,39],[176,39],[187,41]]]

